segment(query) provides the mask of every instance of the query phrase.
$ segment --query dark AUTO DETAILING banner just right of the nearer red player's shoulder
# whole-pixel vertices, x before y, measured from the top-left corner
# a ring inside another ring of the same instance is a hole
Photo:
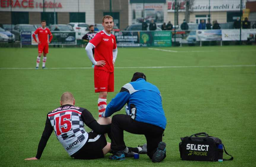
[[[123,47],[139,47],[139,34],[133,31],[119,31],[115,32],[117,46]]]

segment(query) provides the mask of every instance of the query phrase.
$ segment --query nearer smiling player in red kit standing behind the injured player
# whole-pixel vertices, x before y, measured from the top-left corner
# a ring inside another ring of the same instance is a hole
[[[117,58],[117,44],[115,35],[111,34],[114,26],[113,17],[106,15],[102,18],[104,30],[98,32],[87,44],[85,50],[94,66],[94,88],[99,92],[99,118],[106,109],[107,92],[114,91],[114,65]],[[94,49],[94,58],[93,51]],[[111,120],[111,118],[110,118]]]

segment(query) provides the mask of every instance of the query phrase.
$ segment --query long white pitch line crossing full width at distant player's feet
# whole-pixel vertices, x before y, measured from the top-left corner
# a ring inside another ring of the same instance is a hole
[[[206,68],[212,68],[212,67],[255,67],[256,65],[229,65],[229,66],[158,66],[158,67],[115,67],[117,69],[125,69],[125,68],[200,68],[200,67],[206,67]],[[40,70],[36,68],[19,68],[19,67],[14,67],[14,68],[0,68],[0,70]],[[44,70],[69,70],[69,69],[93,69],[91,67],[53,67],[53,68],[47,68]]]

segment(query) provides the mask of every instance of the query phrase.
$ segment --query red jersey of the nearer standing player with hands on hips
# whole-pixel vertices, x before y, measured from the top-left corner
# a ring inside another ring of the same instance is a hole
[[[105,34],[104,31],[98,32],[93,39],[90,40],[95,47],[94,58],[96,61],[105,60],[106,65],[104,67],[94,66],[95,69],[107,71],[109,73],[114,72],[113,66],[113,49],[117,48],[116,38],[113,34]]]

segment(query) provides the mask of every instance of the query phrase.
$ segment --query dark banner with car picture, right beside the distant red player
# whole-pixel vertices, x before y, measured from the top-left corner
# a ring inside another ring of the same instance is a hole
[[[53,39],[50,44],[76,45],[76,32],[74,31],[52,31]]]

